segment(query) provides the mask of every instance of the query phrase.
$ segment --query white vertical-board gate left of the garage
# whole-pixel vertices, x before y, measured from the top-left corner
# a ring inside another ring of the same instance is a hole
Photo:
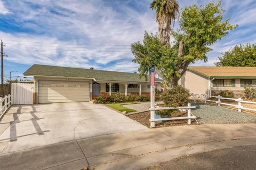
[[[12,83],[12,104],[33,104],[34,84]]]

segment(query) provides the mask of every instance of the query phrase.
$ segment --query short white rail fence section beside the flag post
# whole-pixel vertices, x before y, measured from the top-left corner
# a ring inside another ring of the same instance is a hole
[[[191,116],[191,109],[195,109],[195,106],[191,106],[188,103],[188,106],[185,107],[159,107],[159,108],[150,108],[151,118],[149,119],[150,124],[155,121],[163,121],[163,120],[179,120],[179,119],[188,119],[188,124],[191,124],[191,119],[195,119],[196,116]],[[173,109],[186,109],[188,110],[188,116],[186,117],[170,117],[170,118],[155,118],[155,110],[173,110]],[[152,127],[155,127],[155,124],[151,124]]]

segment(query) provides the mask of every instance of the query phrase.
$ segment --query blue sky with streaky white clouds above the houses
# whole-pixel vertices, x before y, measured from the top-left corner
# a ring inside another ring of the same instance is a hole
[[[3,39],[4,75],[22,73],[32,64],[50,64],[133,72],[130,44],[141,41],[144,31],[156,33],[155,11],[150,0],[0,0],[0,38]],[[207,1],[180,0],[181,9]],[[238,24],[236,30],[212,45],[212,66],[221,52],[237,44],[256,42],[255,0],[225,0],[225,18]],[[177,26],[178,21],[176,22]],[[7,78],[6,77],[6,78]],[[15,78],[15,77],[13,77]]]

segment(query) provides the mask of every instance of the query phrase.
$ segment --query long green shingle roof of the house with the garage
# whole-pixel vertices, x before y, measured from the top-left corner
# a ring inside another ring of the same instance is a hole
[[[34,64],[24,75],[30,76],[56,76],[56,77],[77,77],[77,78],[94,78],[98,81],[117,81],[117,82],[138,82],[149,83],[150,77],[146,80],[145,77],[139,76],[136,73],[105,71],[105,70],[91,70],[84,68],[58,67],[46,66],[41,64]],[[162,82],[161,79],[156,78],[156,82]]]

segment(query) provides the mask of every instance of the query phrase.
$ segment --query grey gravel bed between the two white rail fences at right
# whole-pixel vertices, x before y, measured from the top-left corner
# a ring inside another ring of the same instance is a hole
[[[197,117],[199,124],[256,123],[256,116],[252,114],[201,102],[190,103],[191,106],[196,106],[196,109],[192,109],[191,112]]]

